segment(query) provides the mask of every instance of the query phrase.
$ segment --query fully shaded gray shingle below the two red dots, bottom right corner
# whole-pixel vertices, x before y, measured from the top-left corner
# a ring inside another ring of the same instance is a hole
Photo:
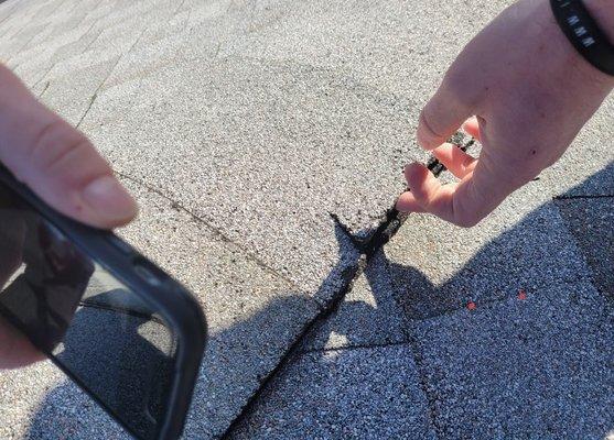
[[[614,328],[588,283],[417,322],[438,433],[603,439],[614,427]]]

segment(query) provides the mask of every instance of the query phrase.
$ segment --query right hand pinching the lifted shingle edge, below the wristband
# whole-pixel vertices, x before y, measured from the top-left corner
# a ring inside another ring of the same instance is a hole
[[[586,4],[614,30],[614,3]],[[419,144],[460,182],[441,185],[423,165],[408,165],[410,190],[397,209],[476,224],[559,160],[613,87],[569,43],[548,0],[519,1],[467,44],[420,116]],[[483,145],[478,158],[444,143],[465,120]]]

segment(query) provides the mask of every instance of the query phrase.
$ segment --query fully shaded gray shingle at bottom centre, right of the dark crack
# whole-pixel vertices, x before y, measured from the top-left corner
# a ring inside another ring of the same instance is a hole
[[[234,439],[434,439],[407,345],[303,354]]]

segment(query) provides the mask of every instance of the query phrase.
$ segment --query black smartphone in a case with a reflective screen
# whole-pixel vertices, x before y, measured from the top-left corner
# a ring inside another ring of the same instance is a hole
[[[194,297],[0,165],[0,314],[133,437],[177,439],[206,342]]]

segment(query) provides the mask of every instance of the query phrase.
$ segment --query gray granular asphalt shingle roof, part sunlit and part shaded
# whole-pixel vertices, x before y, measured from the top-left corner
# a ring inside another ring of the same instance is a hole
[[[384,221],[428,157],[421,107],[508,3],[0,4],[0,59],[108,157],[142,207],[120,233],[206,310],[186,438],[614,430],[612,99],[476,229],[411,216],[366,270],[344,232]],[[50,363],[0,391],[0,438],[126,438]]]

